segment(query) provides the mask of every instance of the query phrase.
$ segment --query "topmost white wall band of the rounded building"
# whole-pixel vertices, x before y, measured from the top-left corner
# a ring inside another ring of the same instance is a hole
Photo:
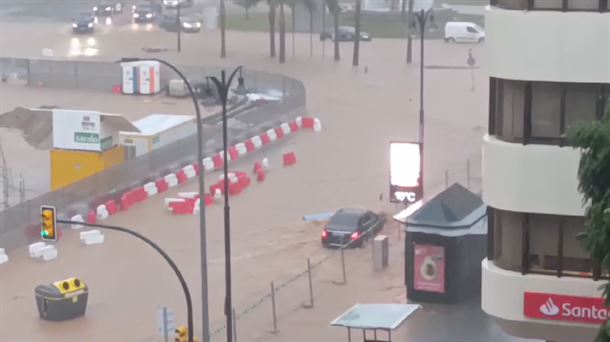
[[[486,11],[494,77],[610,83],[610,12]]]

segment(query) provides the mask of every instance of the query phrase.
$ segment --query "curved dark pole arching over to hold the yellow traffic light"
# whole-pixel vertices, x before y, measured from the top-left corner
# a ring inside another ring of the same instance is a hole
[[[123,233],[137,237],[138,239],[144,241],[149,246],[151,246],[155,251],[157,251],[157,253],[159,253],[163,257],[163,259],[165,259],[165,261],[167,261],[167,263],[169,264],[169,267],[171,267],[171,269],[174,271],[174,273],[176,274],[176,277],[178,277],[178,281],[180,281],[180,285],[182,286],[182,291],[184,292],[184,299],[186,300],[186,317],[187,317],[187,327],[189,330],[188,331],[188,340],[189,340],[189,342],[193,342],[193,304],[191,302],[191,293],[189,292],[188,285],[186,284],[186,280],[184,280],[184,277],[182,276],[180,269],[178,268],[178,266],[176,266],[176,264],[174,263],[172,258],[170,258],[169,255],[167,255],[167,253],[165,253],[165,251],[163,249],[161,249],[161,247],[159,247],[156,243],[154,243],[152,240],[150,240],[146,236],[144,236],[136,231],[133,231],[131,229],[127,229],[127,228],[123,228],[123,227],[119,227],[119,226],[109,226],[109,225],[105,225],[105,224],[93,224],[93,223],[76,222],[76,221],[69,221],[69,220],[57,220],[57,223],[70,224],[70,225],[78,224],[78,225],[85,226],[85,227],[103,228],[103,229],[123,232]]]

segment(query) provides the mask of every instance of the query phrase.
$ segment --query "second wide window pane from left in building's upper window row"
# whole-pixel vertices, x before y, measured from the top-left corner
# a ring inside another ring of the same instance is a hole
[[[561,86],[559,83],[532,83],[532,136],[559,138],[561,135]]]

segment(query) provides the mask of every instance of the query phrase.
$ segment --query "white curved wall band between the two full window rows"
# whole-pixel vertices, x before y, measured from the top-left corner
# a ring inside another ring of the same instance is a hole
[[[503,210],[583,216],[580,153],[571,147],[483,137],[483,200]]]

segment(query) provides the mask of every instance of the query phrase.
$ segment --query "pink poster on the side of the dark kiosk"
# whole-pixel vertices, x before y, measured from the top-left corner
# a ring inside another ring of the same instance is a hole
[[[415,244],[413,252],[413,287],[419,291],[445,293],[445,248]]]

